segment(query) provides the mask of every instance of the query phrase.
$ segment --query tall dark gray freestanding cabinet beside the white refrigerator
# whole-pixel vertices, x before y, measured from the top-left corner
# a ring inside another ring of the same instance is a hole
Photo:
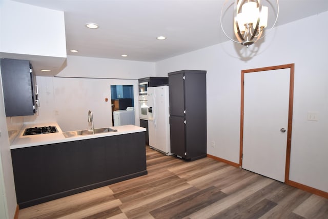
[[[168,73],[171,152],[186,160],[207,156],[206,71]]]

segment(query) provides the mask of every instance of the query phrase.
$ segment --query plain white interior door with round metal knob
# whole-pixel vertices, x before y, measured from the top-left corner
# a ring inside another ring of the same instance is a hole
[[[284,182],[290,69],[244,74],[242,168]]]

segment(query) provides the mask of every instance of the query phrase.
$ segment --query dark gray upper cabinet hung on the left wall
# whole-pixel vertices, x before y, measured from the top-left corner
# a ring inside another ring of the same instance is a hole
[[[6,116],[33,115],[35,76],[28,60],[0,59]]]

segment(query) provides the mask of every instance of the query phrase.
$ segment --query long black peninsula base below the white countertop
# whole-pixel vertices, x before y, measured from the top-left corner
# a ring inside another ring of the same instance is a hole
[[[12,149],[19,209],[146,175],[145,132]]]

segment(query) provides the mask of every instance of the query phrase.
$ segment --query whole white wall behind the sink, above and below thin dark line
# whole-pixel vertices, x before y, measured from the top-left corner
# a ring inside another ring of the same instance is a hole
[[[135,124],[138,119],[138,78],[154,76],[155,63],[68,56],[56,77],[37,76],[39,112],[25,123],[56,121],[63,131],[86,129],[88,110],[96,128],[112,126],[111,85],[133,85]],[[108,98],[108,102],[105,102]]]

